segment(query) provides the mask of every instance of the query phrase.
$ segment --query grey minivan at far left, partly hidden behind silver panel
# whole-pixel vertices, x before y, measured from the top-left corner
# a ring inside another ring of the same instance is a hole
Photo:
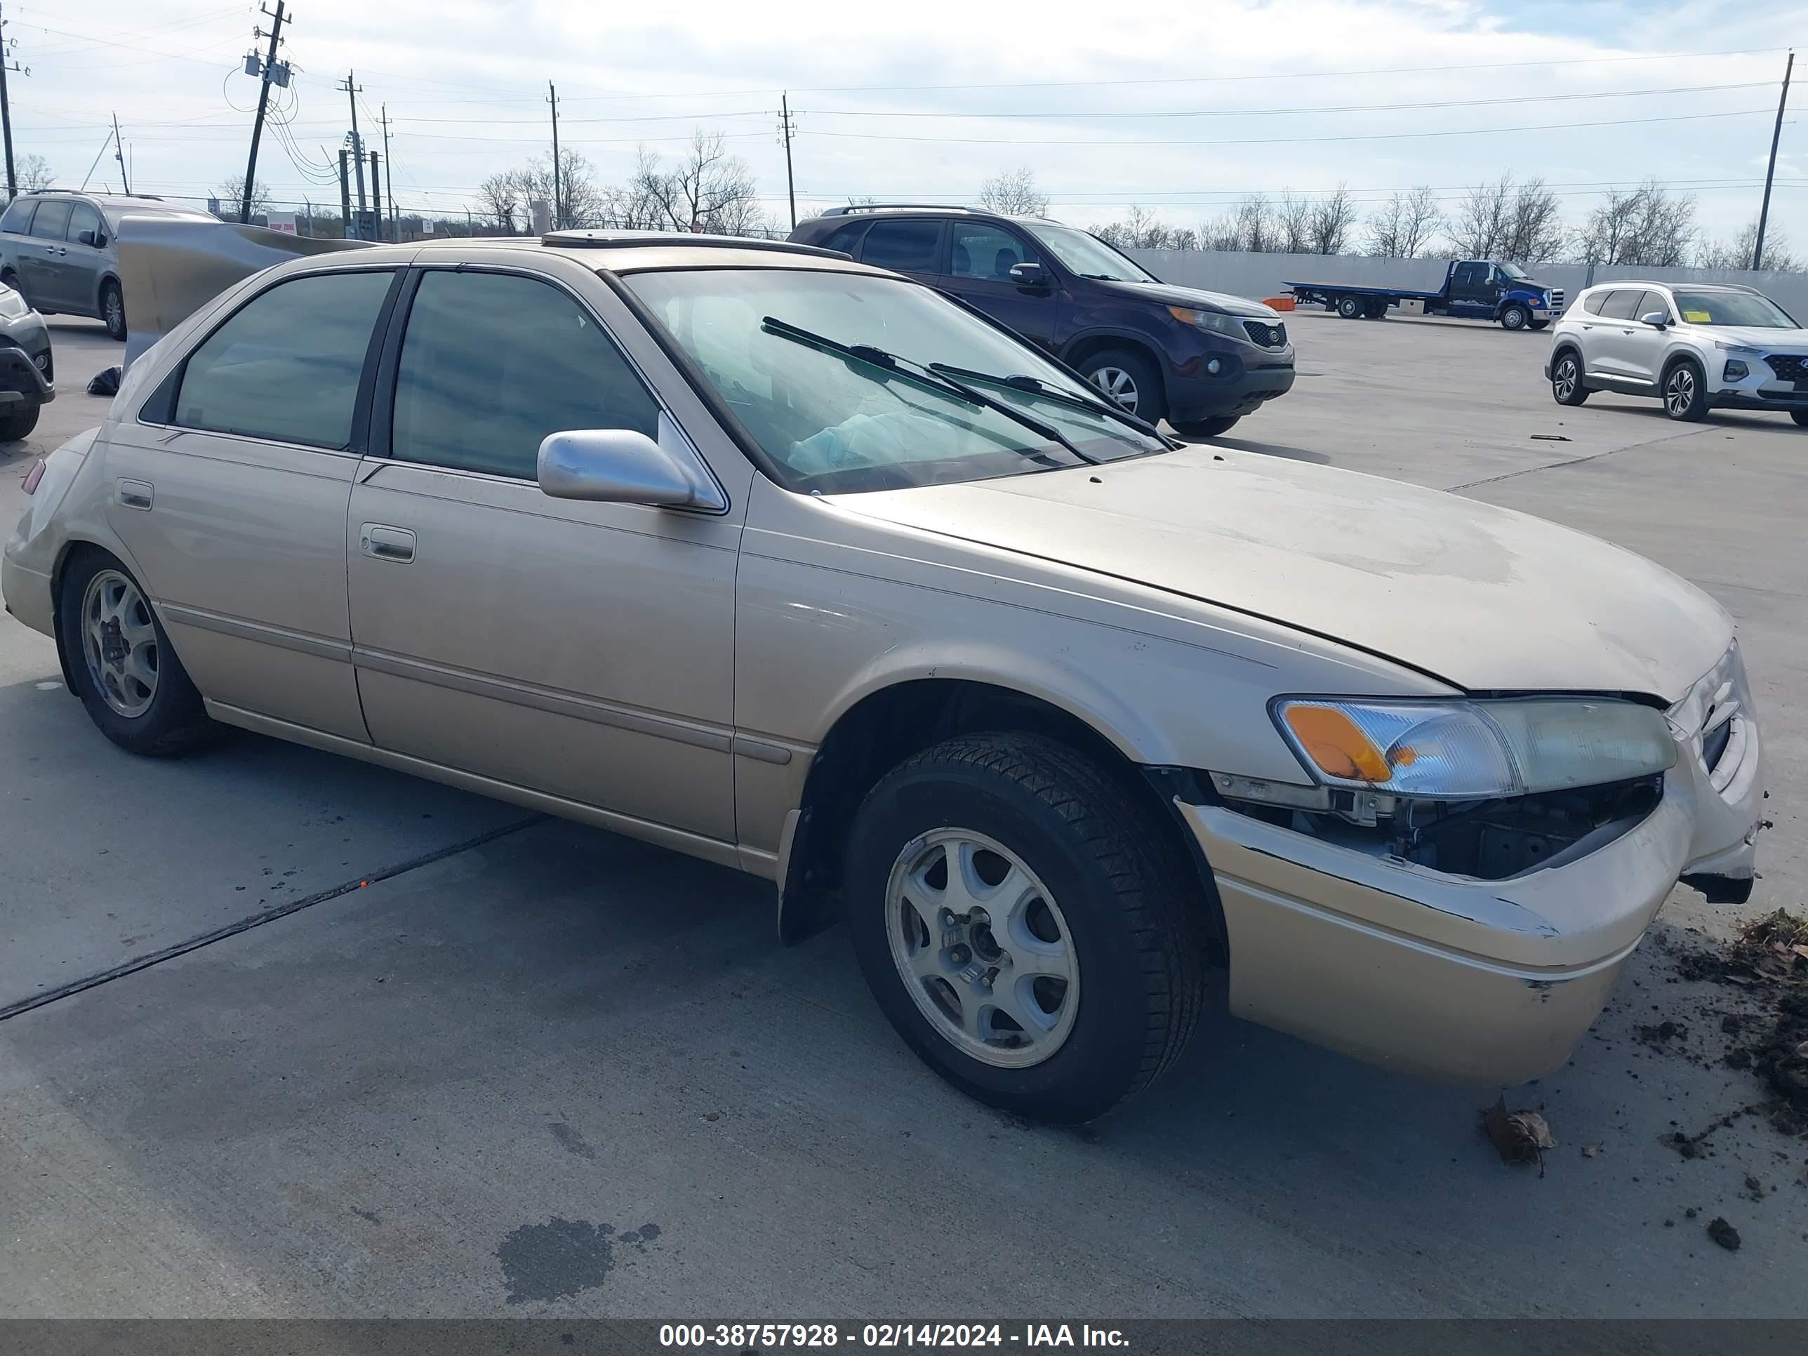
[[[119,286],[119,219],[201,217],[155,197],[107,197],[42,190],[13,201],[0,217],[0,284],[16,287],[43,315],[85,315],[125,338]]]

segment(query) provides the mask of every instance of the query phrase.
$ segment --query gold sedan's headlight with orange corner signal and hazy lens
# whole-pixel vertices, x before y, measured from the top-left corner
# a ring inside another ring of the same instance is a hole
[[[1314,781],[1390,796],[1524,796],[1631,781],[1676,763],[1663,712],[1611,698],[1280,698],[1273,714]]]

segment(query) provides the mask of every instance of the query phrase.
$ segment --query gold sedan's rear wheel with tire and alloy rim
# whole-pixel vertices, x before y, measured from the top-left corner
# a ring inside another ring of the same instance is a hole
[[[83,550],[65,568],[56,624],[76,696],[116,745],[163,758],[219,732],[163,622],[112,555]]]

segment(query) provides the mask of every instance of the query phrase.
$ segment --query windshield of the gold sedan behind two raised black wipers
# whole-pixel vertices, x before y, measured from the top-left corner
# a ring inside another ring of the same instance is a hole
[[[796,331],[810,331],[911,363],[1034,376],[1052,392],[1097,396],[1034,349],[915,282],[805,269],[673,269],[633,273],[624,282],[765,452],[768,474],[790,490],[899,490],[1166,450],[1108,414],[1052,394],[985,389],[987,398],[1056,428],[1069,448],[951,383],[796,338]]]

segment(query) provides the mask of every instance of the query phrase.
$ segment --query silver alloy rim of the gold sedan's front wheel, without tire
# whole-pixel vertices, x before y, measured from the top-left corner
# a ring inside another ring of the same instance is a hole
[[[964,1054],[1040,1065],[1079,1011],[1061,908],[1023,861],[965,828],[904,846],[886,884],[886,938],[917,1009]]]

